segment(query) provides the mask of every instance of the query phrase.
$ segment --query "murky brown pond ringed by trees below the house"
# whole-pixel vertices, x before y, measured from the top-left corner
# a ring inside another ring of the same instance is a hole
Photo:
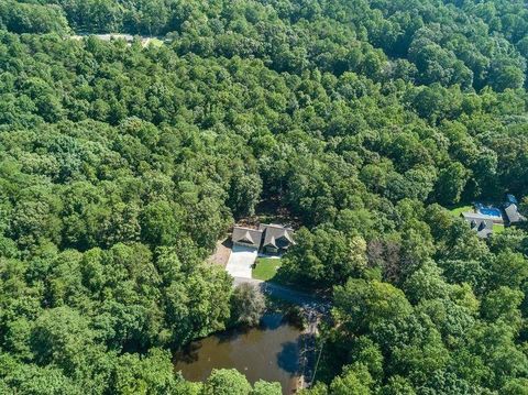
[[[237,369],[250,383],[279,382],[295,389],[299,371],[300,330],[280,314],[267,314],[258,328],[233,329],[193,342],[175,358],[186,380],[205,381],[213,369]]]

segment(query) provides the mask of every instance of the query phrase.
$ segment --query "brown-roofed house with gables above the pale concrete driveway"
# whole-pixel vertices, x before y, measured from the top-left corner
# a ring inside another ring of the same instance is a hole
[[[258,229],[234,227],[231,239],[233,244],[262,249],[271,254],[286,252],[295,244],[294,230],[276,223],[262,223]]]

